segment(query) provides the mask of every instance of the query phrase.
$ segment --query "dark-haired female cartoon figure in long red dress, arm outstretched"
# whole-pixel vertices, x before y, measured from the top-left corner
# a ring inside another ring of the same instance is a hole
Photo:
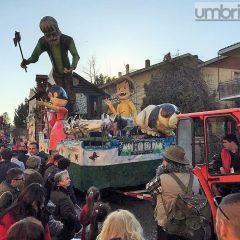
[[[53,85],[49,89],[48,96],[51,103],[40,100],[37,101],[37,104],[54,110],[57,113],[56,122],[54,123],[50,133],[49,142],[49,150],[55,150],[57,144],[66,138],[66,134],[63,131],[63,122],[68,114],[68,110],[65,108],[68,102],[68,97],[65,90],[58,85]]]

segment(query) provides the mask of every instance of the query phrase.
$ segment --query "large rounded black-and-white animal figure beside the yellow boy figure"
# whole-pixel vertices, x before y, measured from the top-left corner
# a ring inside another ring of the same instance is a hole
[[[179,113],[178,108],[171,103],[149,105],[137,115],[136,123],[148,135],[172,136]]]

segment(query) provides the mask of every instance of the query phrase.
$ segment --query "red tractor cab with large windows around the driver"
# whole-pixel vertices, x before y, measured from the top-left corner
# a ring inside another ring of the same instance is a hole
[[[198,177],[208,199],[214,223],[216,216],[214,198],[240,192],[240,171],[235,169],[223,174],[215,164],[216,161],[222,161],[223,137],[234,134],[240,140],[239,127],[238,108],[178,116],[176,142],[185,149],[186,156],[193,165],[193,173]]]

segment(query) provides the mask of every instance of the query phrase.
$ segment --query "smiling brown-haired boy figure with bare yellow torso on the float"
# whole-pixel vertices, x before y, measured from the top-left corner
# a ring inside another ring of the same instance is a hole
[[[117,109],[114,108],[110,99],[105,100],[106,105],[109,107],[113,115],[120,114],[123,117],[132,117],[135,122],[137,110],[133,102],[129,100],[130,96],[134,94],[134,85],[132,80],[127,76],[120,78],[117,81],[116,90],[116,95],[120,100],[120,103],[117,105]]]

